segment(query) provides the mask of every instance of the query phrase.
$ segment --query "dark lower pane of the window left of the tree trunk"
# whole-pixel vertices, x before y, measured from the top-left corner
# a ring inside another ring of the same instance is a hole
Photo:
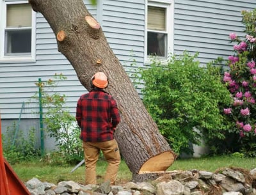
[[[6,31],[6,54],[31,53],[31,29]]]

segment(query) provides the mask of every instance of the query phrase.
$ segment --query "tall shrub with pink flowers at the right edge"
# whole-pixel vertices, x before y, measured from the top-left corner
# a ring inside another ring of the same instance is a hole
[[[244,40],[236,33],[230,33],[234,54],[228,57],[228,71],[223,82],[233,99],[229,107],[223,109],[229,121],[233,121],[230,132],[237,134],[238,152],[256,156],[256,9],[243,11],[246,27]],[[254,22],[253,22],[254,21]],[[249,151],[249,152],[248,152]]]

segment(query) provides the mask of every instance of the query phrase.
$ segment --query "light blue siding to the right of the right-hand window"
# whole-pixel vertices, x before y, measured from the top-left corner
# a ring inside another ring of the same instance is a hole
[[[200,62],[227,59],[233,52],[228,35],[244,36],[241,10],[256,8],[256,1],[175,1],[174,52],[199,52]]]

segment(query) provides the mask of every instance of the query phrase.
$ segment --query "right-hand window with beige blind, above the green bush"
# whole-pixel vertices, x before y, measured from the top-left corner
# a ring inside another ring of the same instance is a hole
[[[173,4],[169,1],[148,1],[147,56],[167,58],[172,52]]]

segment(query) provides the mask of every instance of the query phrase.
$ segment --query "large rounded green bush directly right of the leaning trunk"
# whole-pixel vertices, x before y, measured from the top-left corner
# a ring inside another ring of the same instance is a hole
[[[193,153],[191,143],[225,138],[220,106],[230,103],[230,94],[220,68],[202,68],[197,57],[184,52],[166,64],[152,58],[150,68],[138,74],[145,84],[143,102],[176,153]]]

